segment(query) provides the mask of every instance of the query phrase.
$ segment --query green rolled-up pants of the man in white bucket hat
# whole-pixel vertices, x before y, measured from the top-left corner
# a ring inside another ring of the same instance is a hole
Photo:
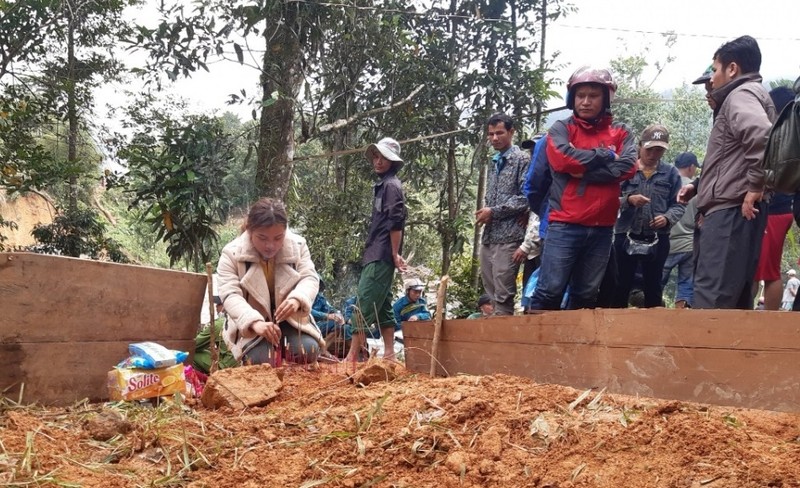
[[[393,280],[393,263],[373,261],[361,271],[358,301],[353,311],[353,332],[364,332],[371,325],[381,329],[394,328]]]

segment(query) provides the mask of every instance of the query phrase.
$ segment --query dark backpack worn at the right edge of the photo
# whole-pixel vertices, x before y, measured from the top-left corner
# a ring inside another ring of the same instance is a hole
[[[800,191],[800,78],[794,92],[798,95],[772,125],[761,163],[767,189],[782,193]]]

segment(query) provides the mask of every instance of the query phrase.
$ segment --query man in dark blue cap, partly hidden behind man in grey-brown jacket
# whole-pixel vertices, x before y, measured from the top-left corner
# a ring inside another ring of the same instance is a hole
[[[700,164],[692,152],[683,152],[675,158],[675,167],[681,175],[681,184],[691,183]],[[667,286],[672,270],[678,268],[675,287],[675,308],[691,308],[694,296],[694,220],[697,216],[697,197],[686,205],[683,217],[669,231],[669,255],[664,263],[661,287]]]

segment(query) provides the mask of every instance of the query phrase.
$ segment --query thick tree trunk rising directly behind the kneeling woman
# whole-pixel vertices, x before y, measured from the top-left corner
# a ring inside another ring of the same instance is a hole
[[[294,106],[303,84],[302,53],[295,34],[297,5],[284,5],[282,19],[264,32],[263,106],[258,133],[256,184],[261,195],[286,199],[294,169]],[[273,95],[275,95],[273,97]],[[277,100],[273,100],[277,98]]]

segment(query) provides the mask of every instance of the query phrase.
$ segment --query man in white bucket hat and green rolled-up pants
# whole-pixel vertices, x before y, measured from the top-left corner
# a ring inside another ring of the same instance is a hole
[[[377,326],[383,339],[385,359],[394,359],[394,311],[392,281],[394,270],[405,271],[402,256],[403,229],[406,224],[406,203],[403,185],[397,172],[403,167],[400,143],[385,137],[370,144],[364,152],[380,180],[373,188],[372,218],[364,249],[364,269],[358,281],[356,307],[353,314],[353,339],[347,361],[357,361],[366,343],[366,329]]]

